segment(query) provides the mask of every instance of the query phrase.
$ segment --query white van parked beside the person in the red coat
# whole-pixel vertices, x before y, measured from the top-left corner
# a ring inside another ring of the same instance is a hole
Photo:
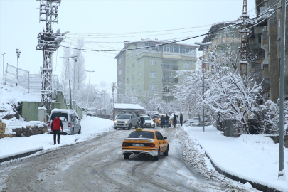
[[[56,117],[59,117],[60,120],[62,121],[63,134],[81,133],[81,124],[80,124],[81,119],[78,118],[78,114],[74,110],[63,110],[63,109],[52,110],[48,121],[48,130],[47,130],[48,133],[52,133],[51,124]]]

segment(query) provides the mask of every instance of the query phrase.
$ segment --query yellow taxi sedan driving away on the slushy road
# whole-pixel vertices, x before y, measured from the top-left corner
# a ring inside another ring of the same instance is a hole
[[[132,154],[148,154],[155,160],[159,160],[161,154],[168,156],[169,143],[166,139],[156,130],[137,128],[122,143],[124,159],[129,159]]]

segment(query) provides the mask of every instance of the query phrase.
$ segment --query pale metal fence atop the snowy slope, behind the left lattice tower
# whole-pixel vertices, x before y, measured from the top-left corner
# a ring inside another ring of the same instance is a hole
[[[7,83],[11,85],[17,85],[23,87],[27,92],[41,93],[42,89],[42,75],[41,74],[29,74],[29,71],[17,68],[15,66],[7,64],[6,74],[4,77],[5,85]],[[58,75],[52,75],[52,90],[61,90]]]

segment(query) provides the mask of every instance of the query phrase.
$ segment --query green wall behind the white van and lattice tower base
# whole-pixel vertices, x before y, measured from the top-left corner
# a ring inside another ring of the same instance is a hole
[[[22,102],[22,117],[27,121],[38,121],[38,107],[41,107],[40,102]],[[65,97],[63,97],[62,91],[57,92],[57,102],[52,103],[52,109],[68,109],[66,105]],[[75,102],[73,108],[78,114],[79,118],[82,118],[82,109]]]

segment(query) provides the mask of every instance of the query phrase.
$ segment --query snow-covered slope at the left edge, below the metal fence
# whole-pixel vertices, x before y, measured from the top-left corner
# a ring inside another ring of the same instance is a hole
[[[27,94],[19,87],[0,84],[0,119],[21,119],[17,107],[23,101],[40,102],[40,95]]]

